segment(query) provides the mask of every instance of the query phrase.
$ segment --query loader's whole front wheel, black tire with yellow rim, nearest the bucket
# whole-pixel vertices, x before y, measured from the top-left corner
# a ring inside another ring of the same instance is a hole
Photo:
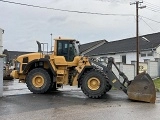
[[[93,69],[82,76],[81,89],[89,98],[100,98],[111,89],[111,85],[100,71]]]

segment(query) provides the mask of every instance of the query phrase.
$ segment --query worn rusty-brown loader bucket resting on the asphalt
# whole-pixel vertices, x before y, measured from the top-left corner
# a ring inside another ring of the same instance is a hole
[[[143,72],[137,75],[127,88],[129,99],[155,103],[156,90],[152,78]]]

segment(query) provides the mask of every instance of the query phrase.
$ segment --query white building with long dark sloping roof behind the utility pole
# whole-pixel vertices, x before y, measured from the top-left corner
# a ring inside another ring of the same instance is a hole
[[[142,37],[147,38],[149,41],[143,40]],[[160,58],[160,32],[140,36],[139,49],[140,62],[146,59],[155,60],[155,58]],[[101,46],[85,53],[87,56],[96,58],[114,57],[115,62],[123,62],[126,64],[131,64],[131,61],[136,61],[136,54],[136,37],[105,42]]]

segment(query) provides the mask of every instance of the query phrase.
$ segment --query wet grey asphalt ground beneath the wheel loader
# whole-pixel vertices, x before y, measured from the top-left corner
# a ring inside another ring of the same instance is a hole
[[[160,93],[155,104],[135,102],[119,90],[89,99],[80,89],[64,86],[50,94],[32,94],[25,84],[4,82],[0,120],[160,120]]]

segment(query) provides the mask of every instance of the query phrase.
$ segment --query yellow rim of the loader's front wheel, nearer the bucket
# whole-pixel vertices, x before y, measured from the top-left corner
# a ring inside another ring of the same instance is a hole
[[[100,81],[98,78],[92,77],[88,80],[88,87],[91,90],[98,90],[100,87]]]

